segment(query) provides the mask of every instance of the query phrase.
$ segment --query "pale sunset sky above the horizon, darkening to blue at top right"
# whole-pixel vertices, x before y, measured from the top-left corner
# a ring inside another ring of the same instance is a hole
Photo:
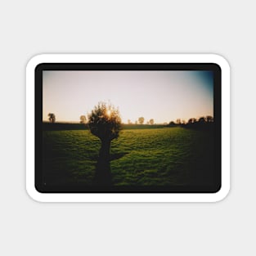
[[[213,74],[203,70],[43,71],[43,121],[78,122],[100,101],[119,109],[122,122],[145,123],[213,116]]]

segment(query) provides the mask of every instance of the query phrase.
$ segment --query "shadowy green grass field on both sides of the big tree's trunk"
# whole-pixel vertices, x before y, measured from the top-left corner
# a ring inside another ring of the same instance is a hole
[[[43,131],[43,182],[92,185],[100,147],[88,129]],[[205,185],[212,168],[210,131],[125,128],[111,142],[115,186]]]

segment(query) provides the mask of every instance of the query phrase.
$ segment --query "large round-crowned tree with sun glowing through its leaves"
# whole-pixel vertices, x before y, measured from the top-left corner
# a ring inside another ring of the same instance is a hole
[[[99,102],[92,113],[88,115],[88,126],[92,134],[101,140],[99,159],[103,162],[109,161],[110,143],[119,137],[121,130],[119,110],[111,104],[107,105],[105,102]]]

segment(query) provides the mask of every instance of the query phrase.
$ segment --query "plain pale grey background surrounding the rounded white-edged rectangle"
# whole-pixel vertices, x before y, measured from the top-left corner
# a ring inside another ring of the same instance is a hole
[[[1,255],[256,253],[256,18],[253,1],[236,2],[0,3]],[[31,200],[25,191],[25,65],[38,53],[55,52],[204,52],[226,57],[231,65],[227,198],[209,204]]]

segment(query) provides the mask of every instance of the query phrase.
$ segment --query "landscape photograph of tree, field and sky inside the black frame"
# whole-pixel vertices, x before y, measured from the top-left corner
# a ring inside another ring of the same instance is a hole
[[[213,70],[42,70],[38,187],[217,191],[215,118]]]

